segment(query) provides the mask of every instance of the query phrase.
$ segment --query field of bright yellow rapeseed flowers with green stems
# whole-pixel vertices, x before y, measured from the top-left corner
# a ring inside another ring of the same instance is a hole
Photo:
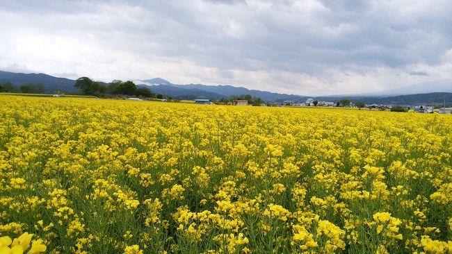
[[[0,116],[0,253],[452,253],[450,116],[22,96]]]

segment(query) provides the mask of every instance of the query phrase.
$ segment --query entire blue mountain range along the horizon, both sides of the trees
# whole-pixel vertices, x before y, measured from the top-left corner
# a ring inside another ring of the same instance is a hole
[[[69,78],[57,78],[47,74],[22,74],[8,71],[0,71],[0,83],[12,83],[19,88],[24,83],[42,83],[45,92],[52,93],[60,90],[67,93],[77,92],[74,87],[75,81]],[[260,90],[248,90],[245,87],[234,87],[232,85],[202,85],[188,84],[177,85],[163,78],[152,78],[146,80],[134,80],[138,87],[148,87],[154,94],[166,94],[174,99],[195,99],[204,96],[211,100],[221,98],[228,99],[232,95],[250,94],[268,102],[282,101],[306,101],[314,98],[318,101],[339,101],[350,99],[361,101],[366,104],[442,104],[444,99],[447,104],[452,104],[452,81],[438,81],[436,83],[419,83],[407,87],[386,90],[370,94],[349,94],[337,96],[302,96],[297,94],[279,94]]]

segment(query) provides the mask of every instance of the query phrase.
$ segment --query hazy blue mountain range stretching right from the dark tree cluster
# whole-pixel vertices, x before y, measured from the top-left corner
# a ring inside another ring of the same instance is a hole
[[[296,94],[278,94],[259,90],[248,90],[244,87],[233,87],[231,85],[176,85],[163,78],[152,78],[147,80],[135,80],[134,83],[140,87],[150,87],[152,92],[167,94],[176,99],[195,99],[196,96],[205,96],[209,99],[227,99],[232,95],[250,94],[264,101],[302,102],[309,98],[318,101],[340,101],[341,99],[351,99],[366,104],[392,104],[392,105],[412,105],[412,104],[442,104],[452,103],[452,82],[440,81],[439,83],[420,83],[399,89],[387,90],[387,92],[376,92],[371,94],[351,94],[337,96],[301,96]]]

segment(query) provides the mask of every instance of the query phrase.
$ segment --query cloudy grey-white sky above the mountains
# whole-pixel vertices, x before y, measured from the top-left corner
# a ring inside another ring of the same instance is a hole
[[[0,0],[0,69],[293,94],[452,79],[450,0]]]

